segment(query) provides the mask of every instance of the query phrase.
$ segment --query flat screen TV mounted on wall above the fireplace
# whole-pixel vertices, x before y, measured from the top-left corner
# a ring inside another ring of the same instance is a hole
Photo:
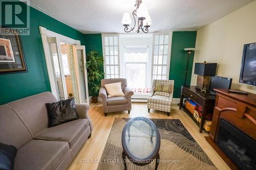
[[[239,82],[256,86],[256,43],[244,45]]]

